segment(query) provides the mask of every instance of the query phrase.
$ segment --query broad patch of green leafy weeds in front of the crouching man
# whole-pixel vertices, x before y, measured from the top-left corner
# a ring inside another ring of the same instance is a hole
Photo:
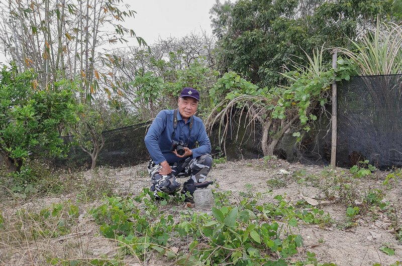
[[[179,222],[155,205],[149,189],[134,199],[109,197],[90,213],[100,224],[100,232],[118,239],[124,253],[143,258],[147,252],[156,251],[177,265],[224,262],[286,265],[286,259],[303,246],[302,237],[292,234],[291,228],[298,221],[322,223],[328,219],[315,208],[311,212],[295,209],[281,195],[275,196],[277,204],[263,205],[248,198],[233,205],[229,202],[230,195],[231,192],[214,192],[216,205],[212,215],[182,212]],[[139,207],[142,204],[145,209]],[[279,226],[275,220],[283,225]],[[176,253],[169,248],[176,238],[191,242],[189,252]],[[314,255],[310,254],[308,261],[316,261]]]

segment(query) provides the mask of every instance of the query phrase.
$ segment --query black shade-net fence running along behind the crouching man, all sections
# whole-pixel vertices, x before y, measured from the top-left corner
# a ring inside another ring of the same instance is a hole
[[[338,83],[337,165],[352,167],[369,160],[381,169],[402,167],[402,75],[357,76]],[[235,112],[229,123],[225,147],[218,127],[209,134],[213,154],[229,160],[261,158],[261,126],[247,127]],[[277,145],[274,155],[290,162],[328,165],[331,155],[331,105],[317,110],[312,130],[296,143],[292,133]],[[105,147],[96,165],[132,166],[149,160],[144,137],[149,124],[137,124],[103,132]],[[236,138],[236,135],[237,138]],[[72,141],[65,137],[65,142]],[[226,152],[226,154],[224,153]],[[72,146],[56,166],[90,166],[90,156]]]

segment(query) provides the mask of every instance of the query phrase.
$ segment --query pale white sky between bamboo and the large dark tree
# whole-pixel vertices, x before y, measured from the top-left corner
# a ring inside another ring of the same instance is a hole
[[[137,12],[135,19],[126,20],[126,26],[148,45],[158,38],[183,37],[202,30],[212,34],[209,11],[215,0],[125,0],[124,4]],[[134,38],[128,40],[124,46],[138,46]],[[5,59],[0,52],[0,62],[6,62]]]

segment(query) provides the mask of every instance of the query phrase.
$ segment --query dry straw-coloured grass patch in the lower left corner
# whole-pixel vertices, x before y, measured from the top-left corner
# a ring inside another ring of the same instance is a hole
[[[85,217],[103,195],[114,193],[115,176],[108,168],[64,173],[57,191],[28,197],[3,186],[0,265],[141,265],[120,254],[117,240],[100,236],[98,225]]]

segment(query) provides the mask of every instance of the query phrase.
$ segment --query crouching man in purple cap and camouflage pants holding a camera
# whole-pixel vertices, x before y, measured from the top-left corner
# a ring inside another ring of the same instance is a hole
[[[178,108],[160,111],[145,136],[151,156],[148,165],[151,191],[157,199],[158,191],[172,194],[179,189],[177,178],[182,177],[189,179],[184,182],[181,193],[188,191],[192,195],[196,189],[194,183],[205,181],[211,170],[211,143],[203,121],[194,115],[198,101],[197,90],[184,88]]]

